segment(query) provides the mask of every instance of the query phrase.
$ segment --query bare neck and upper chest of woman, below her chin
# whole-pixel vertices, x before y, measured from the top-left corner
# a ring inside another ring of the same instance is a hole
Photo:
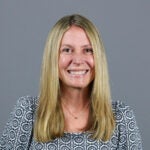
[[[88,123],[89,92],[87,89],[65,89],[61,103],[66,132],[82,132]]]

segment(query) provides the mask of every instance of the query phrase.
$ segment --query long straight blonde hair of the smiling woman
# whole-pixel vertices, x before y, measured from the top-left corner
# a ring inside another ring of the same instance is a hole
[[[64,115],[60,105],[58,57],[61,39],[72,26],[86,32],[94,54],[95,78],[91,91],[92,138],[109,140],[115,128],[105,50],[96,27],[87,18],[74,14],[61,18],[48,35],[41,72],[39,103],[34,124],[34,138],[48,142],[64,134]]]

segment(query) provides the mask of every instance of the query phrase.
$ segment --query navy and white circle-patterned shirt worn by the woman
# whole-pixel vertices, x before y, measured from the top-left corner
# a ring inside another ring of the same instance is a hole
[[[120,101],[112,102],[116,128],[109,141],[93,140],[88,132],[64,133],[47,143],[33,138],[38,98],[21,97],[10,115],[0,139],[0,150],[142,150],[133,110]]]

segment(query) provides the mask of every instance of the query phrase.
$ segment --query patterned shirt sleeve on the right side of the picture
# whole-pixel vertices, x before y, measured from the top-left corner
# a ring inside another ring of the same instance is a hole
[[[118,130],[118,149],[142,150],[142,141],[133,109],[122,102],[117,102],[116,126]]]

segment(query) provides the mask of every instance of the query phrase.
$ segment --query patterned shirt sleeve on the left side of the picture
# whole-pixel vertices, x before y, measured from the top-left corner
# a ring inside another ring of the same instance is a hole
[[[0,139],[0,149],[28,149],[32,137],[34,107],[32,97],[18,99]]]

